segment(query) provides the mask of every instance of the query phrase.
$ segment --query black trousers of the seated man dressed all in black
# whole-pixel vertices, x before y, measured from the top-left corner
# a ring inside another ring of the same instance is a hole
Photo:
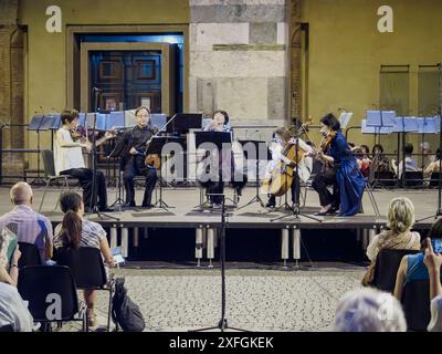
[[[131,157],[124,165],[123,179],[126,189],[126,202],[135,205],[135,176],[146,176],[145,195],[143,197],[143,206],[151,205],[151,195],[155,190],[157,183],[157,170],[155,168],[146,167],[144,157]]]

